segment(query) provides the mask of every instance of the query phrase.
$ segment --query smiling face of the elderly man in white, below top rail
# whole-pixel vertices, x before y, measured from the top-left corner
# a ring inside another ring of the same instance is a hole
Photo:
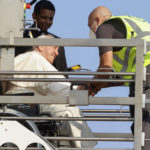
[[[58,56],[58,46],[42,46],[41,54],[47,59],[48,62],[53,64],[56,56]]]

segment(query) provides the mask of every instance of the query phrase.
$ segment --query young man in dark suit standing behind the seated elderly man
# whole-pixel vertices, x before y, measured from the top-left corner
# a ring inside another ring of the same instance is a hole
[[[34,7],[34,12],[32,14],[32,18],[36,20],[33,25],[30,27],[31,30],[25,30],[23,37],[24,38],[37,38],[40,35],[47,35],[51,34],[55,38],[58,38],[56,35],[49,33],[47,30],[51,27],[53,24],[53,18],[55,15],[55,7],[54,5],[48,1],[48,0],[40,0],[38,3],[36,3]],[[38,29],[32,29],[36,27]],[[15,56],[24,53],[28,50],[30,50],[31,47],[18,47],[15,51]],[[65,57],[65,50],[64,47],[59,48],[59,55],[55,58],[55,61],[53,65],[59,70],[59,71],[65,71],[67,70],[67,63],[66,63],[66,57]]]

